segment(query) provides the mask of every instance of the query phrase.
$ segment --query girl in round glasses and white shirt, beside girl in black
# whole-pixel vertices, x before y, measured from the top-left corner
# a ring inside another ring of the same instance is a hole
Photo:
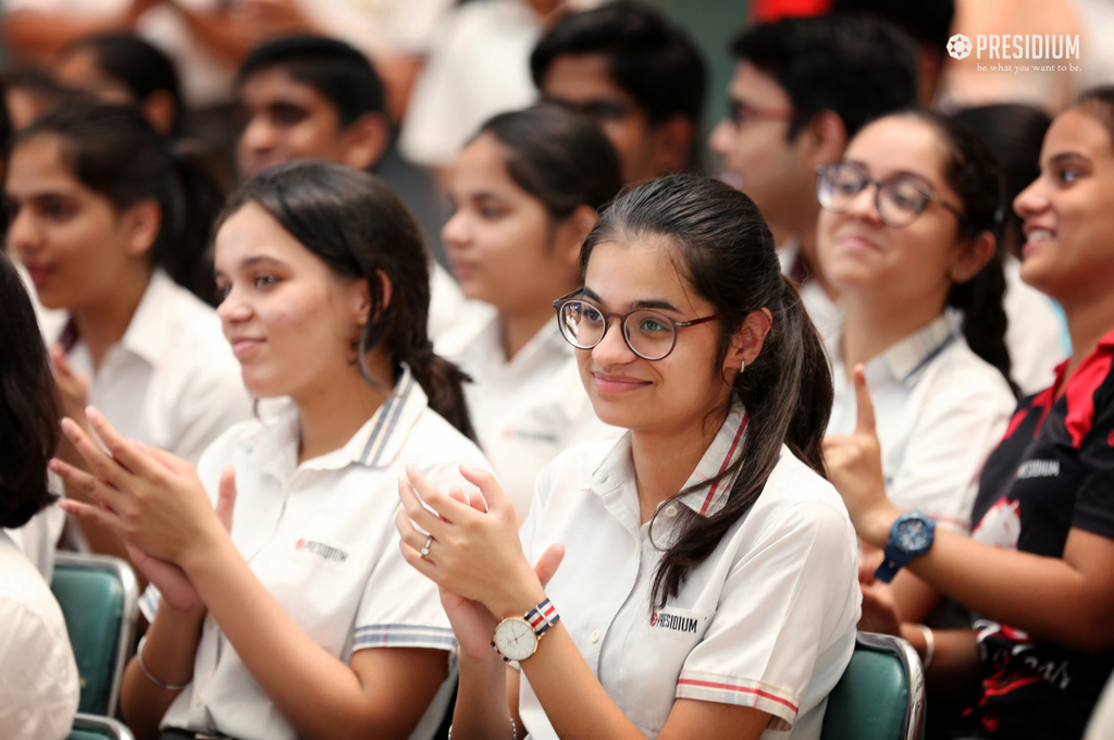
[[[867,125],[817,179],[820,263],[846,306],[828,431],[854,430],[851,369],[864,364],[887,493],[962,533],[983,463],[1016,405],[995,256],[1003,195],[981,140],[925,113]],[[961,333],[947,309],[961,315]],[[913,622],[939,602],[908,571],[891,587]]]

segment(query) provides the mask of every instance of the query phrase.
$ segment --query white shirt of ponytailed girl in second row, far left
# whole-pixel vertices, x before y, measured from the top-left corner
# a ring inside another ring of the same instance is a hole
[[[196,465],[221,432],[252,418],[252,399],[216,311],[160,270],[99,369],[72,321],[58,341],[70,367],[91,379],[89,403],[125,438]]]

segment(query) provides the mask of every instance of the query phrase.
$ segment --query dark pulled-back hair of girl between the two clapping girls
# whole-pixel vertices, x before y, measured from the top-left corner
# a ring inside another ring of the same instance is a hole
[[[619,158],[604,133],[583,114],[541,104],[499,114],[480,127],[504,149],[515,184],[555,221],[580,205],[597,211],[623,187]]]

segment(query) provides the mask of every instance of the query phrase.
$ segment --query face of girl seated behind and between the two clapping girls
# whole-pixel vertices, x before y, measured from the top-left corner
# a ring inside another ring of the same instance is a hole
[[[465,295],[500,313],[547,310],[579,282],[579,240],[592,223],[554,223],[511,178],[490,134],[465,147],[449,185],[453,214],[441,238]]]

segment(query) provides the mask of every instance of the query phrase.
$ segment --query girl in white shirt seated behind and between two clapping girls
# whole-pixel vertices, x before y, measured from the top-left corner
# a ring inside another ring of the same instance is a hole
[[[580,243],[622,186],[607,138],[554,105],[487,121],[453,169],[442,241],[465,295],[496,315],[438,351],[472,377],[472,422],[519,517],[561,450],[619,435],[592,410],[553,301],[580,284]]]

